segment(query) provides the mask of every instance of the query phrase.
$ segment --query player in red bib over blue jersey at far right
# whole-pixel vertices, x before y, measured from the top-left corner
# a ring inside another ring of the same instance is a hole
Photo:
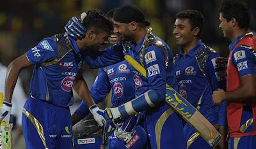
[[[220,29],[232,42],[227,66],[227,92],[216,90],[216,104],[227,101],[230,131],[228,148],[256,148],[256,39],[248,31],[250,11],[243,1],[225,1],[220,7]]]

